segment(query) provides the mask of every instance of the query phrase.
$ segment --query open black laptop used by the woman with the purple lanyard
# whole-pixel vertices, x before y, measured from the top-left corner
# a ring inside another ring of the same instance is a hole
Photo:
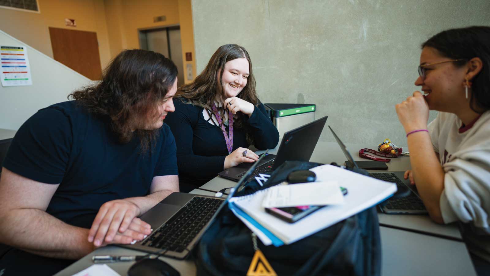
[[[218,175],[233,181],[240,181],[248,168],[255,163],[259,163],[259,166],[248,178],[254,177],[259,173],[273,171],[285,161],[310,161],[327,118],[328,116],[322,117],[284,133],[277,155],[264,153],[262,155],[265,158],[262,162],[242,163],[238,166],[227,168],[218,173]]]

